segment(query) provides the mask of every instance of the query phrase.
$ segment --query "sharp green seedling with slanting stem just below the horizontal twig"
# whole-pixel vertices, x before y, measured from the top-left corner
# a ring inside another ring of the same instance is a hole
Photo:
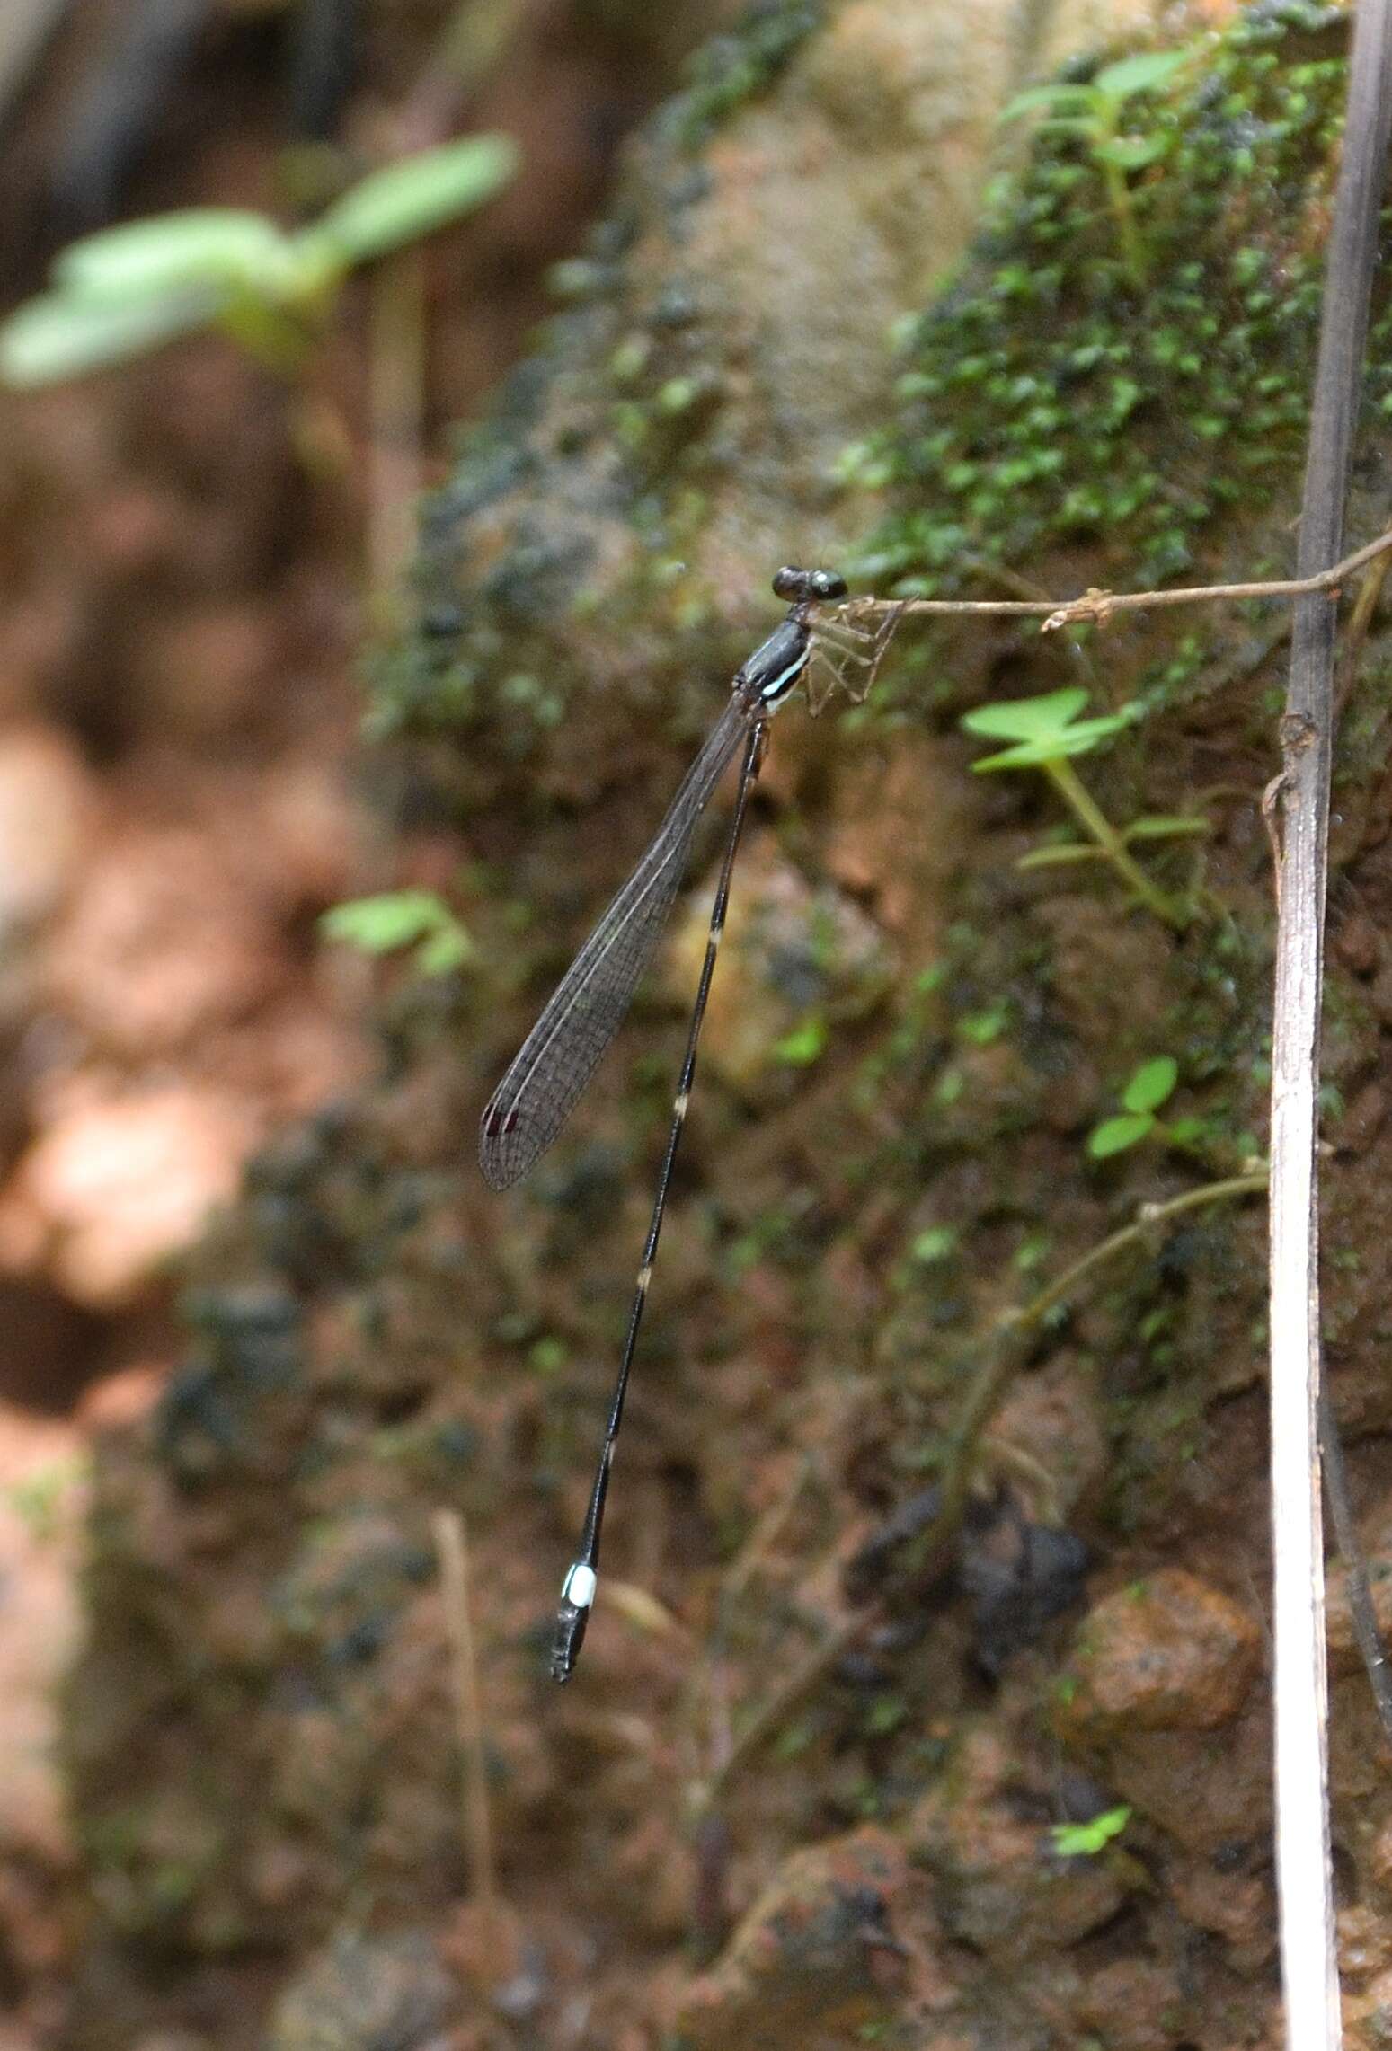
[[[1207,833],[1205,818],[1185,818],[1170,814],[1148,814],[1131,820],[1129,827],[1113,827],[1098,810],[1070,757],[1090,755],[1105,740],[1133,726],[1139,706],[1123,706],[1096,720],[1080,720],[1078,714],[1088,701],[1080,685],[1064,691],[1045,691],[1043,697],[1016,697],[1004,706],[977,706],[963,714],[969,734],[983,734],[988,740],[1010,740],[1014,747],[1000,749],[998,755],[983,755],[971,767],[977,775],[992,769],[1041,769],[1064,804],[1070,808],[1086,841],[1061,841],[1051,847],[1037,847],[1022,857],[1022,870],[1059,868],[1076,861],[1107,861],[1148,911],[1166,925],[1183,931],[1189,925],[1189,909],[1176,904],[1152,884],[1146,872],[1129,853],[1131,841],[1162,841],[1174,835]]]

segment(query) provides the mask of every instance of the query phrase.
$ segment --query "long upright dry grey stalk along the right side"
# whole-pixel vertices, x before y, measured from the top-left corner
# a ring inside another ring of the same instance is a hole
[[[1392,0],[1359,0],[1349,53],[1296,566],[1335,576],[1363,384],[1367,301],[1392,129]],[[1275,1809],[1287,2045],[1339,2051],[1328,1842],[1318,1386],[1318,1087],[1335,613],[1296,607],[1281,720],[1281,868],[1271,1050],[1271,1528]]]

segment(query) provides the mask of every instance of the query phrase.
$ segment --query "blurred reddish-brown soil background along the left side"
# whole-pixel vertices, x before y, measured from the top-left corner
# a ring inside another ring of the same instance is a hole
[[[470,127],[507,129],[526,158],[478,224],[429,248],[417,482],[441,476],[446,425],[511,365],[618,142],[719,10],[643,23],[616,8],[600,23],[530,0],[470,88],[437,62],[456,12],[446,0],[363,12],[339,131],[345,170]],[[189,64],[113,174],[117,217],[279,205],[289,14],[232,0],[205,10]],[[90,219],[70,183],[90,139],[82,119],[148,16],[140,0],[84,0],[29,80],[2,82],[6,308],[39,285],[66,232],[103,217],[101,180],[84,189]],[[160,1401],[187,1345],[181,1259],[246,1161],[376,1064],[374,974],[320,943],[318,915],[443,882],[456,863],[433,827],[388,835],[363,804],[392,804],[365,788],[357,753],[378,511],[363,332],[353,287],[302,392],[199,340],[51,394],[0,396],[6,2047],[64,2028],[82,1926],[55,1719],[80,1631],[92,1446]],[[205,2020],[222,2041],[216,2012]]]

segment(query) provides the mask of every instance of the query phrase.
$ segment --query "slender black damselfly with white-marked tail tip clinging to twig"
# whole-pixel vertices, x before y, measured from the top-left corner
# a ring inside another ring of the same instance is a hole
[[[581,1091],[593,1075],[604,1050],[618,1032],[643,970],[657,952],[657,943],[667,925],[667,915],[682,884],[682,876],[686,874],[686,859],[692,849],[696,822],[714,796],[717,786],[721,783],[721,777],[729,769],[731,761],[743,749],[739,761],[739,783],[735,786],[735,810],[725,839],[725,857],[721,861],[714,904],[710,909],[706,958],[700,970],[700,982],[696,984],[696,1003],[692,1005],[692,1019],[686,1034],[682,1077],[671,1105],[667,1153],[663,1155],[663,1165],[657,1177],[653,1216],[643,1245],[643,1261],[639,1265],[632,1306],[628,1311],[628,1331],[618,1364],[618,1378],[614,1382],[614,1397],[610,1401],[604,1448],[600,1452],[600,1466],[595,1471],[579,1553],[560,1590],[556,1635],[550,1655],[550,1672],[560,1682],[571,1678],[585,1639],[589,1608],[595,1598],[600,1532],[604,1526],[604,1501],[610,1487],[610,1469],[614,1464],[614,1442],[618,1440],[618,1427],[624,1415],[628,1372],[639,1343],[643,1304],[647,1302],[649,1282],[653,1280],[653,1259],[661,1237],[671,1169],[682,1142],[682,1126],[686,1124],[692,1079],[696,1075],[696,1046],[700,1042],[700,1026],[706,1015],[714,958],[721,946],[721,931],[725,927],[731,874],[739,851],[745,812],[749,808],[749,794],[764,759],[768,722],[784,703],[799,677],[807,671],[813,652],[823,656],[838,677],[842,675],[834,654],[827,652],[825,644],[819,640],[821,630],[813,628],[813,613],[817,605],[844,599],[846,580],[838,576],[836,570],[784,568],[774,576],[774,593],[780,599],[792,601],[786,617],[735,671],[729,703],[710,730],[700,755],[688,769],[686,779],[671,800],[671,808],[657,829],[651,847],[610,909],[604,913],[581,952],[571,962],[571,968],[563,976],[554,997],[524,1040],[517,1058],[489,1099],[478,1134],[478,1159],[482,1173],[495,1190],[507,1190],[513,1181],[519,1181],[519,1177],[528,1173],[528,1169],[556,1138],[560,1126],[575,1110],[575,1103],[579,1101]],[[836,656],[850,658],[852,662],[871,669],[873,675],[873,662],[879,658],[887,634],[895,624],[897,621],[891,615],[887,628],[875,636],[871,654],[866,654],[864,648],[848,648],[844,642],[832,642],[832,648]],[[848,632],[854,634],[854,630]],[[858,634],[854,638],[868,640],[868,636]]]

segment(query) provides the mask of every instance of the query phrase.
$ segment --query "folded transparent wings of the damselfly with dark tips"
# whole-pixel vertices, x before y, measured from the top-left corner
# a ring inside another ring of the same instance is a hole
[[[671,800],[653,845],[567,968],[489,1097],[478,1128],[478,1163],[491,1188],[507,1190],[546,1153],[622,1026],[682,886],[696,820],[753,716],[756,708],[731,697]]]

